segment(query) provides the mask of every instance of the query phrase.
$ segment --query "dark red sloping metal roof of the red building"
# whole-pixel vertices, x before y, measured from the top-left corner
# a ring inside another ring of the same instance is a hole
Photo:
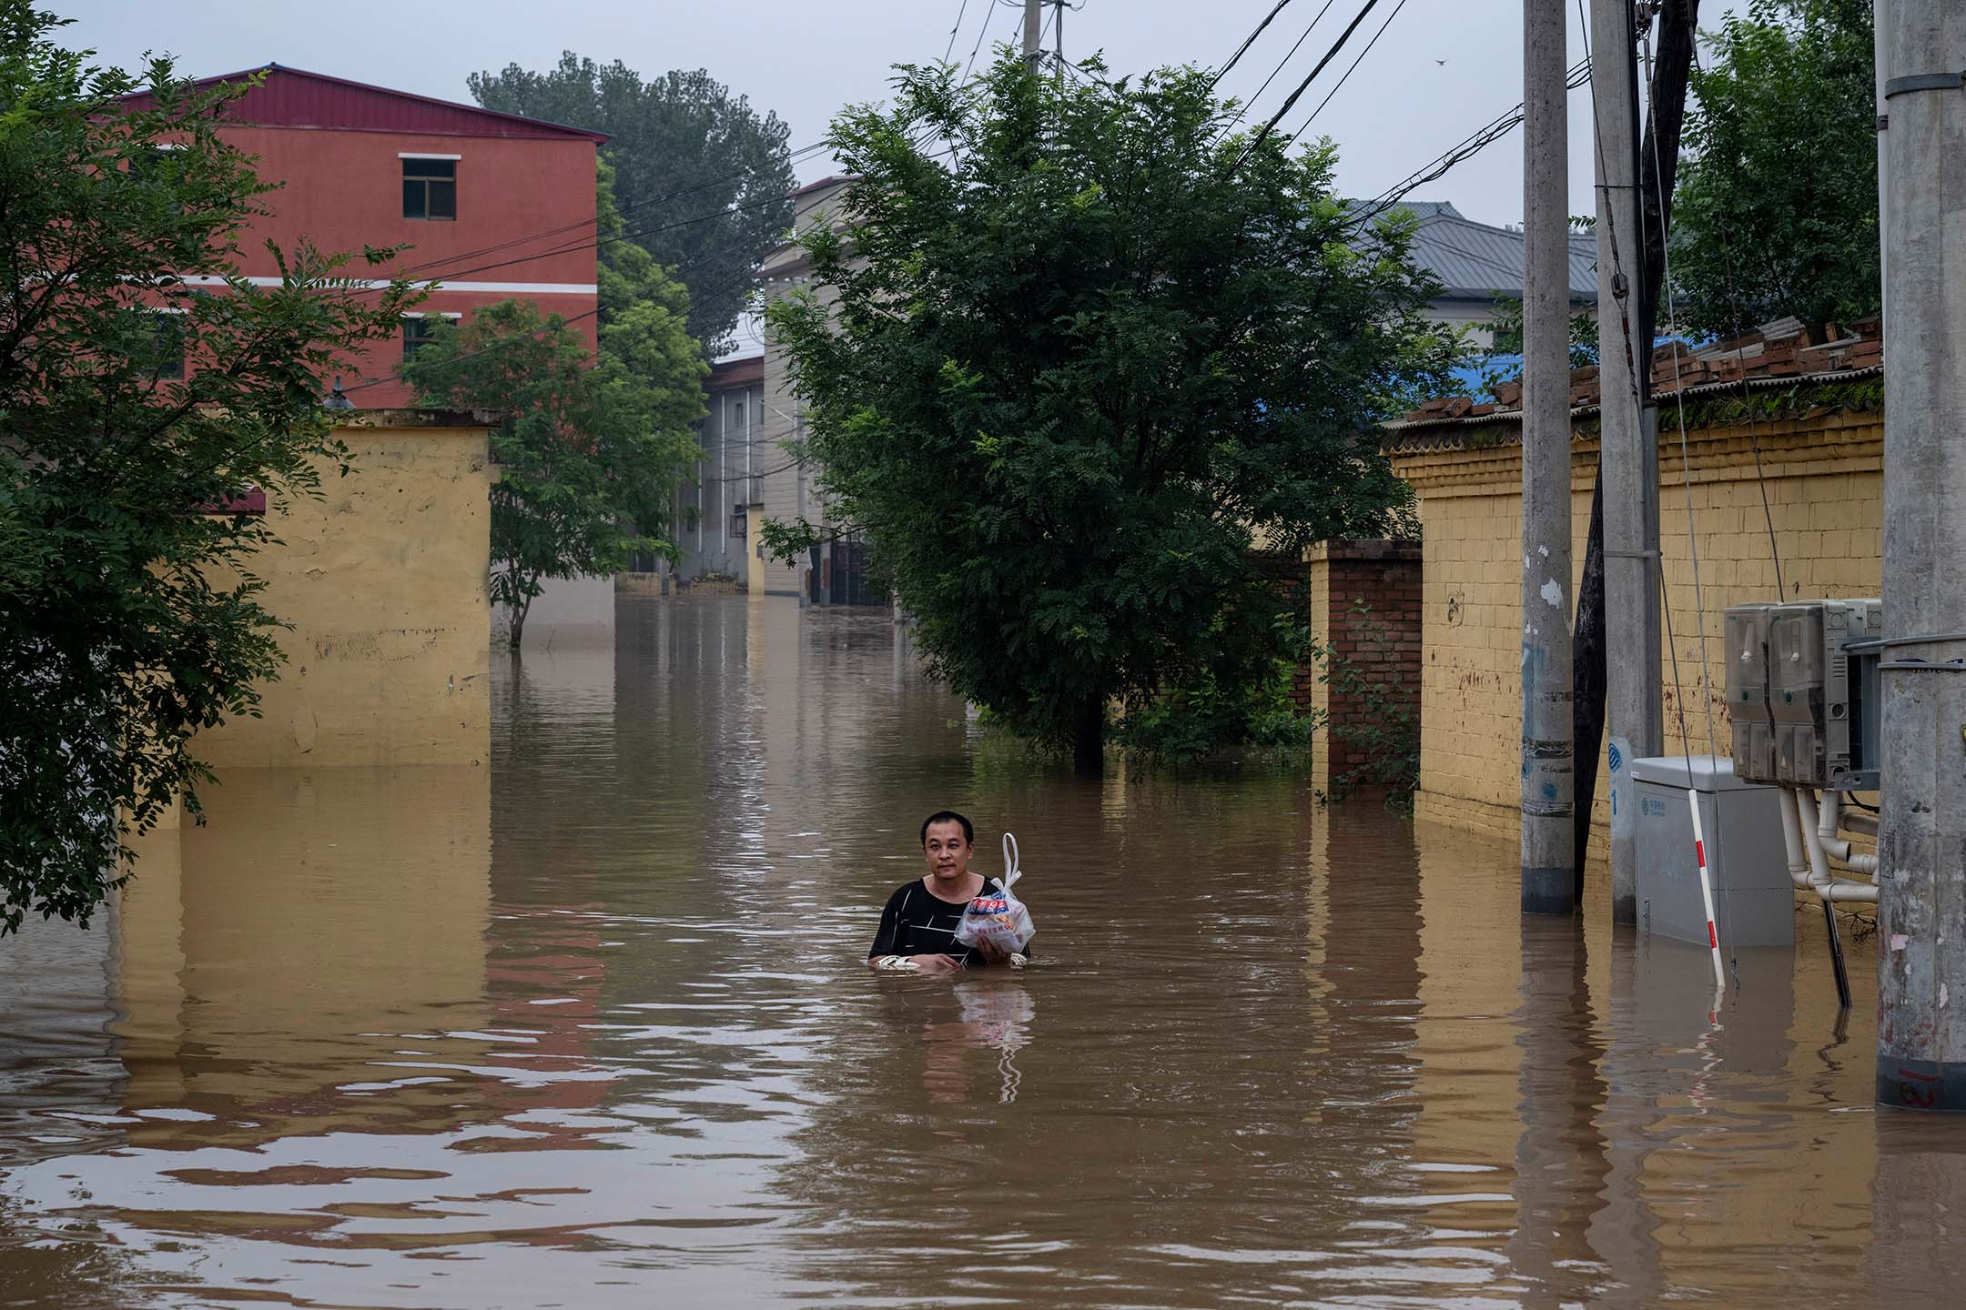
[[[409,90],[352,82],[326,73],[307,73],[267,63],[258,69],[199,79],[197,86],[242,82],[265,75],[260,86],[226,106],[226,118],[238,118],[263,128],[330,128],[338,132],[415,132],[429,136],[478,136],[535,141],[606,141],[606,132],[568,128],[543,118],[501,114],[476,104],[454,104]],[[124,96],[124,104],[144,108],[149,92]]]

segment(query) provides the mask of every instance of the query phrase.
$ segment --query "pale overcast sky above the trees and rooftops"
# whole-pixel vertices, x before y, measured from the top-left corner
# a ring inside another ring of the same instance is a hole
[[[1215,67],[1272,2],[1079,0],[1079,10],[1066,12],[1066,57],[1103,51],[1117,73],[1168,63]],[[1268,118],[1282,106],[1362,2],[1329,6],[1296,59],[1256,98],[1252,114]],[[92,47],[126,67],[145,51],[169,51],[197,77],[273,61],[462,102],[470,102],[466,75],[507,63],[545,69],[562,49],[604,63],[621,59],[645,75],[702,67],[790,124],[794,147],[816,141],[841,104],[883,98],[891,65],[940,59],[952,45],[959,10],[967,8],[954,41],[957,61],[967,59],[985,22],[985,51],[1020,31],[1020,6],[1003,0],[967,0],[967,6],[963,0],[51,0],[49,8],[79,20],[67,29],[67,43]],[[1225,88],[1239,96],[1254,92],[1321,8],[1325,0],[1290,4]],[[1384,191],[1522,100],[1518,0],[1406,0],[1404,6],[1384,0],[1284,118],[1284,130],[1296,128],[1337,84],[1388,14],[1384,37],[1313,126],[1313,134],[1337,139],[1339,183],[1357,196]],[[1583,49],[1573,6],[1571,61]],[[1577,214],[1590,212],[1587,96],[1571,96],[1571,212]],[[826,157],[800,169],[804,181],[828,171]],[[1488,147],[1414,198],[1453,200],[1486,222],[1520,222],[1520,136]]]

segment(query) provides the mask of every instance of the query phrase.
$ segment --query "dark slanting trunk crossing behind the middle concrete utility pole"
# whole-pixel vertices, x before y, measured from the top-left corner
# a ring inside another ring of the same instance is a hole
[[[1651,118],[1638,155],[1638,212],[1644,230],[1640,259],[1638,322],[1642,342],[1638,363],[1640,397],[1651,403],[1651,340],[1657,336],[1665,273],[1665,232],[1673,214],[1673,185],[1679,181],[1679,132],[1687,116],[1687,77],[1693,67],[1693,37],[1701,0],[1675,0],[1659,10],[1659,49],[1651,71]],[[1577,768],[1577,894],[1583,898],[1585,854],[1590,850],[1590,813],[1596,807],[1596,758],[1604,746],[1604,464],[1598,462],[1590,487],[1590,540],[1585,544],[1585,579],[1577,587],[1577,627],[1571,638],[1577,699],[1571,705]]]

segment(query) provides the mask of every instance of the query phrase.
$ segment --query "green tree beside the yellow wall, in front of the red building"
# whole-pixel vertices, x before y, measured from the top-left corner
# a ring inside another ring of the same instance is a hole
[[[710,365],[688,334],[688,293],[659,267],[604,283],[600,352],[558,314],[501,300],[444,324],[403,367],[436,405],[501,410],[492,438],[492,601],[513,611],[511,648],[547,577],[607,575],[655,532],[698,456]]]

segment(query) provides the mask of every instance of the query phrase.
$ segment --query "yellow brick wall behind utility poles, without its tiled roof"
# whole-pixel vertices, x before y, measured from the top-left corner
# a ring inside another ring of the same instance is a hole
[[[1665,642],[1665,748],[1685,733],[1706,752],[1706,707],[1714,750],[1726,754],[1726,676],[1720,666],[1728,605],[1775,599],[1762,487],[1775,526],[1789,599],[1878,595],[1883,554],[1883,416],[1828,414],[1801,420],[1703,428],[1687,434],[1681,460],[1671,407],[1659,432],[1659,554],[1671,638]],[[1451,428],[1449,428],[1451,432]],[[1762,477],[1754,446],[1760,442]],[[1425,538],[1419,797],[1423,819],[1514,837],[1522,770],[1522,450],[1412,450],[1394,467],[1419,497]],[[1579,440],[1571,462],[1575,570],[1583,573],[1590,528],[1596,440]],[[1691,475],[1703,607],[1687,532],[1683,469]],[[1701,664],[1701,632],[1706,664]],[[1673,654],[1679,680],[1673,680]],[[1602,821],[1604,770],[1598,770]]]

